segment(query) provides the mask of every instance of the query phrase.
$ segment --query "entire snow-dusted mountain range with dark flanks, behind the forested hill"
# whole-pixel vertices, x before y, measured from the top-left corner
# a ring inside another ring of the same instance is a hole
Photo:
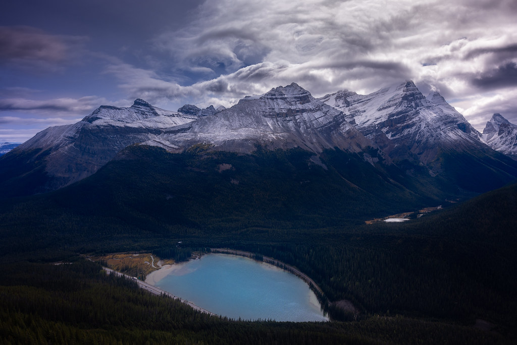
[[[229,109],[186,105],[173,112],[137,99],[129,108],[101,106],[76,124],[39,132],[1,158],[0,184],[4,197],[55,190],[144,144],[171,153],[298,148],[323,168],[323,153],[339,150],[382,171],[436,177],[442,190],[482,192],[517,177],[517,161],[506,156],[515,152],[517,126],[503,120],[494,115],[481,134],[442,96],[425,97],[412,81],[320,99],[292,83]]]

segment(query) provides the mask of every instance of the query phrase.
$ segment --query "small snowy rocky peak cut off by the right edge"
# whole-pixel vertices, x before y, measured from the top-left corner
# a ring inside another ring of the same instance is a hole
[[[496,151],[517,160],[517,125],[494,114],[483,129],[483,140]]]

